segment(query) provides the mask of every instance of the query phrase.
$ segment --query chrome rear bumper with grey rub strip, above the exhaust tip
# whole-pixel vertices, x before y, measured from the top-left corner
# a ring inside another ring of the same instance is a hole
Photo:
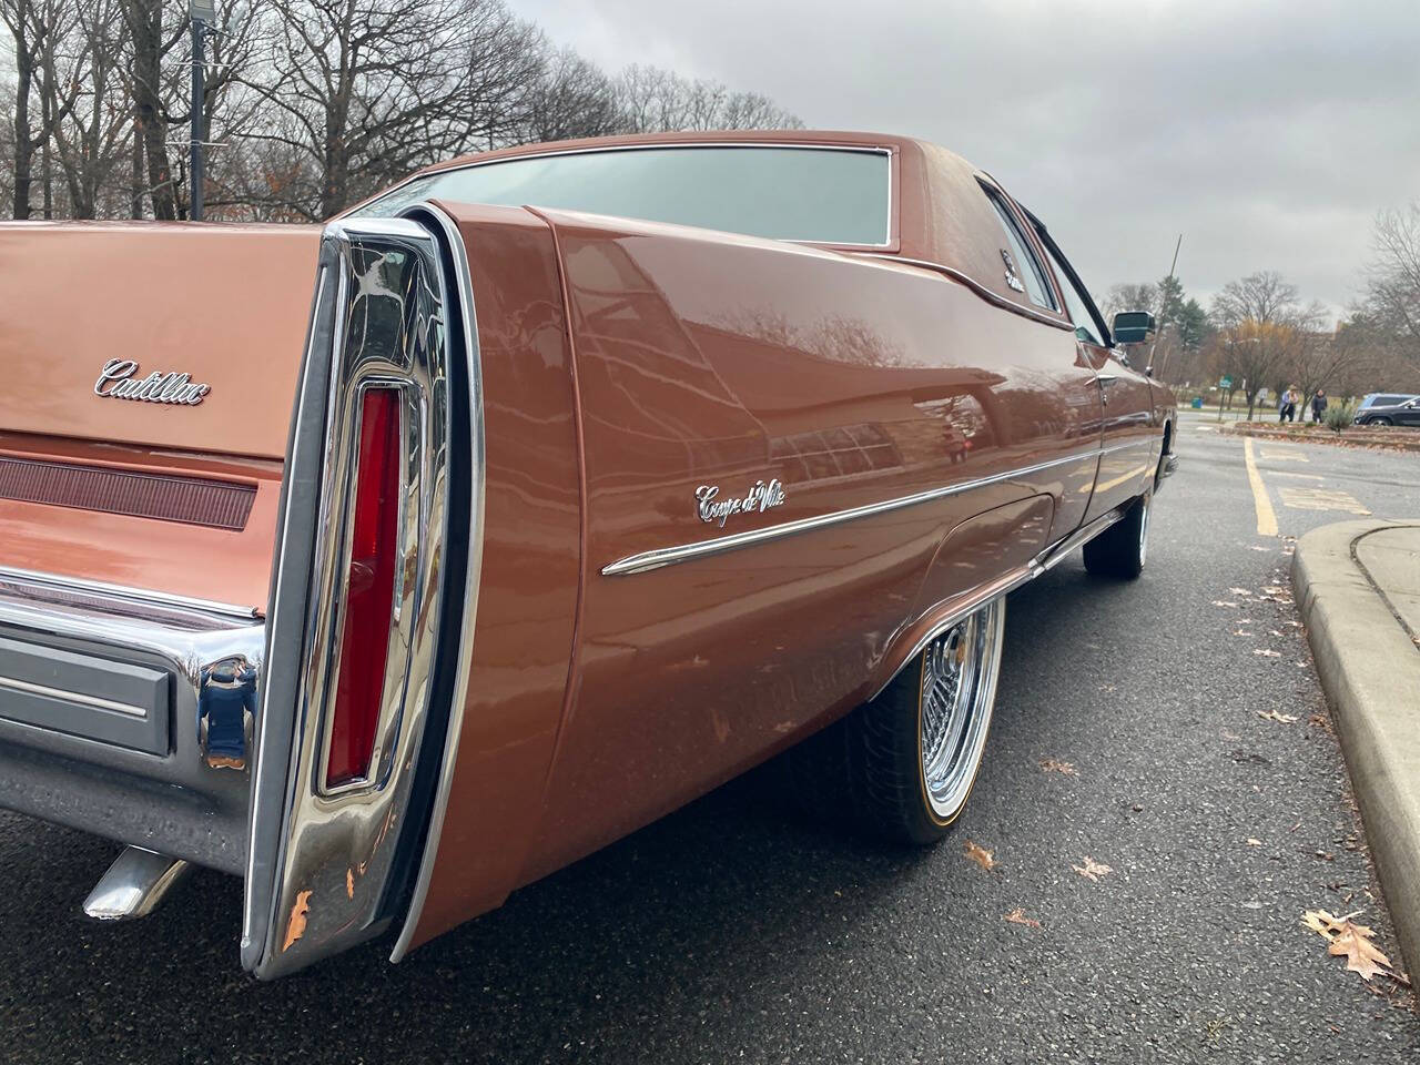
[[[0,568],[0,807],[240,873],[266,626]]]

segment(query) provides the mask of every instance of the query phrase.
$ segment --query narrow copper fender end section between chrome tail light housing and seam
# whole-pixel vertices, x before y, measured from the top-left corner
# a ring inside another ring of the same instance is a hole
[[[479,613],[457,763],[415,940],[503,902],[542,812],[581,581],[571,351],[548,226],[443,204],[469,254],[484,398]]]

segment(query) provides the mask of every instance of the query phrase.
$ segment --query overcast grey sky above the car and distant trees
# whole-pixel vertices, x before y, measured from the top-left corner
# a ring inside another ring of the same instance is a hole
[[[1204,302],[1278,270],[1336,311],[1380,207],[1420,197],[1420,0],[510,0],[609,70],[936,141],[1031,207],[1102,295]]]

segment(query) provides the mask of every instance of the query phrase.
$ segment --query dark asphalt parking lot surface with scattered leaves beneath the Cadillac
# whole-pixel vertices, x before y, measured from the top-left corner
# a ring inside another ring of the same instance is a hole
[[[0,814],[0,1059],[1414,1062],[1410,993],[1299,924],[1362,910],[1394,953],[1287,574],[1316,524],[1420,514],[1420,463],[1254,444],[1250,479],[1186,417],[1145,577],[1075,558],[1011,596],[936,851],[815,824],[761,771],[398,967],[376,944],[258,984],[237,880],[95,926],[114,848]]]

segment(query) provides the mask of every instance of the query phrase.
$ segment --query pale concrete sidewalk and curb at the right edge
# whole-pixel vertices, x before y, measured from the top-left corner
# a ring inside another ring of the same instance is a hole
[[[1406,967],[1420,974],[1420,518],[1312,530],[1292,582]]]

